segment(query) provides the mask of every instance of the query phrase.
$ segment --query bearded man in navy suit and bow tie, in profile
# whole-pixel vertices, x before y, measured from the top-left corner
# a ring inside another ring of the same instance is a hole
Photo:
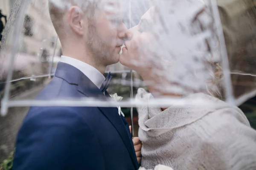
[[[107,4],[67,1],[65,7],[49,2],[63,56],[37,100],[107,99],[103,73],[119,61],[125,39],[126,27],[115,12],[119,4],[104,11]],[[128,123],[117,108],[31,107],[17,135],[14,169],[137,170],[138,162]]]

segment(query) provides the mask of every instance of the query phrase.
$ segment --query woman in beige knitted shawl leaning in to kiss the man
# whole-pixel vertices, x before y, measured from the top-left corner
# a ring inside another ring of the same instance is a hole
[[[140,88],[137,99],[204,101],[138,108],[142,167],[256,170],[256,131],[239,108],[221,100],[221,59],[207,7],[198,0],[157,1],[126,34],[120,62],[150,92]]]

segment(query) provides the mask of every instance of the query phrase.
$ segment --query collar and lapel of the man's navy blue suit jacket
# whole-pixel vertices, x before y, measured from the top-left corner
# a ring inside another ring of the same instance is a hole
[[[84,94],[87,97],[95,97],[99,100],[105,100],[105,101],[108,101],[111,99],[108,93],[106,93],[106,96],[105,96],[102,93],[102,91],[100,91],[99,88],[97,88],[97,86],[90,81],[88,77],[86,77],[81,71],[79,71],[77,68],[73,67],[72,65],[59,62],[55,72],[55,77],[64,79],[70,84],[78,85],[77,90],[81,94]],[[122,118],[119,116],[117,108],[99,107],[99,110],[108,118],[108,120],[116,128],[117,132],[121,136],[122,141],[124,142],[131,156],[131,159],[134,163],[134,167],[138,169],[134,146],[132,144],[131,137],[129,137],[131,135],[129,134],[128,130],[126,130],[125,124]]]

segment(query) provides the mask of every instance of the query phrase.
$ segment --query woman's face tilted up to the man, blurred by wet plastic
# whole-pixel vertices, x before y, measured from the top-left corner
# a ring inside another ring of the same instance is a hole
[[[154,59],[152,59],[152,45],[155,37],[152,34],[152,14],[154,8],[150,8],[140,19],[137,26],[126,32],[128,40],[125,42],[125,48],[122,48],[122,54],[119,61],[139,74],[151,70]],[[150,57],[151,56],[151,57]]]

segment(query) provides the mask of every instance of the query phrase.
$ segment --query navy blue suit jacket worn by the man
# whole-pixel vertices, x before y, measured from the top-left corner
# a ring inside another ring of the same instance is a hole
[[[107,98],[59,62],[38,100]],[[128,123],[117,108],[31,107],[17,135],[14,170],[136,170]]]

